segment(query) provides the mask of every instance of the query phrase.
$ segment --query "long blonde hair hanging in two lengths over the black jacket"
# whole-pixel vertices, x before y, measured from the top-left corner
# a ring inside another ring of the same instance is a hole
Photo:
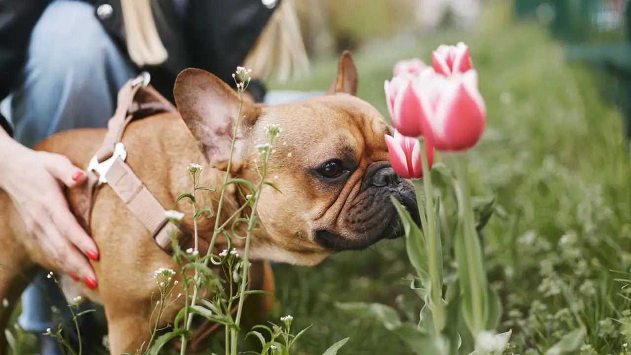
[[[284,82],[290,76],[297,80],[309,73],[309,57],[300,33],[294,1],[281,0],[280,6],[241,64],[252,69],[254,78],[267,80],[276,72],[276,80]],[[121,0],[127,52],[140,67],[162,64],[168,57],[156,28],[151,2]]]

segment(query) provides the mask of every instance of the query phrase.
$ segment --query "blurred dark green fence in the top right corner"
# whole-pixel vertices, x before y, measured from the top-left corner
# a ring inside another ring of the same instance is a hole
[[[631,1],[515,0],[519,17],[536,18],[570,61],[596,71],[603,97],[620,106],[631,139]]]

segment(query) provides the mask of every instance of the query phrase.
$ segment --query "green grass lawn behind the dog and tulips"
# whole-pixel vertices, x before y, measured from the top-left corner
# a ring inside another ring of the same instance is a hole
[[[516,354],[543,354],[563,334],[587,328],[581,354],[623,353],[631,302],[623,282],[631,266],[631,191],[622,119],[599,95],[592,73],[565,61],[536,23],[514,21],[495,1],[480,26],[445,32],[405,47],[354,54],[358,95],[387,116],[383,82],[399,59],[421,57],[463,40],[480,73],[488,124],[471,152],[476,190],[505,210],[486,228],[487,268],[513,329]],[[326,90],[336,58],[314,63],[308,80],[274,88]],[[294,354],[319,355],[350,337],[338,354],[411,354],[382,325],[351,318],[336,301],[379,302],[418,316],[403,277],[411,272],[402,239],[362,253],[341,253],[317,267],[276,265],[270,320],[290,314],[312,328]],[[30,338],[29,338],[30,339]]]

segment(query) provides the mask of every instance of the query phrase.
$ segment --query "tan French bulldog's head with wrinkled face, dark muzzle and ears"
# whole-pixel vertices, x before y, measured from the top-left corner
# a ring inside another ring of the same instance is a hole
[[[187,71],[175,87],[179,111],[209,164],[225,170],[238,99],[208,73]],[[266,142],[268,124],[283,129],[268,171],[281,192],[265,188],[261,194],[258,214],[269,238],[252,242],[254,258],[314,265],[336,251],[363,250],[397,238],[403,226],[391,196],[418,217],[411,182],[389,164],[384,135],[393,129],[377,109],[355,97],[356,88],[357,71],[345,53],[329,95],[285,105],[245,105],[234,174],[259,181],[255,146]]]

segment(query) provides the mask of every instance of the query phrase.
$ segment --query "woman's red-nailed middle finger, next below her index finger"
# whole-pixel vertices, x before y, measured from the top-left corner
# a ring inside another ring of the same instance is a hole
[[[53,258],[56,267],[66,274],[72,275],[73,279],[83,281],[86,286],[94,289],[97,287],[97,277],[90,263],[74,248],[67,239],[64,239],[60,231],[50,220],[42,225],[44,235],[39,236],[40,241],[48,246],[49,255]]]

